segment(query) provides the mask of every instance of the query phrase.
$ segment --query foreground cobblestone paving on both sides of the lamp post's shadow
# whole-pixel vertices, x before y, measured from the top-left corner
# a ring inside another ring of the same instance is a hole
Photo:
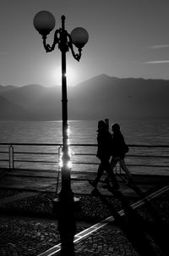
[[[90,224],[78,223],[77,231]],[[60,242],[57,220],[1,217],[1,249],[4,256],[38,255]],[[75,244],[76,255],[139,255],[116,225],[106,225]],[[55,255],[59,255],[56,253]]]

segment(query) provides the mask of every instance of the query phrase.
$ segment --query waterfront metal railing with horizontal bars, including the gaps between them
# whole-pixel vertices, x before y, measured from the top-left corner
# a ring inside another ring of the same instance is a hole
[[[9,169],[24,169],[29,166],[35,170],[41,165],[46,170],[51,169],[51,166],[56,170],[61,146],[62,144],[52,143],[0,143],[0,164],[1,167]],[[74,152],[71,157],[73,166],[84,165],[85,170],[95,170],[95,165],[99,164],[95,157],[96,144],[70,144],[69,147]],[[128,147],[128,167],[169,170],[169,145],[129,144]]]

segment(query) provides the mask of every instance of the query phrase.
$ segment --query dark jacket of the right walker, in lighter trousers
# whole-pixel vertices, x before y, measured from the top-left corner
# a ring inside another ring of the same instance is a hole
[[[124,159],[127,153],[127,146],[121,131],[116,131],[112,135],[112,156]]]

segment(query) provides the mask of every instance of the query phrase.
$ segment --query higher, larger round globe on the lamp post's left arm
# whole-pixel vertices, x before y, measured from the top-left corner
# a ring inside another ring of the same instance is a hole
[[[41,11],[35,14],[34,26],[35,29],[41,34],[41,36],[46,36],[54,28],[55,18],[50,12]]]

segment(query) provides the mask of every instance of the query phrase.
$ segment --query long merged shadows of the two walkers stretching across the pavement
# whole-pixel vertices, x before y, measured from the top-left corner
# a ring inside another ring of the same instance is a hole
[[[148,220],[144,220],[132,207],[129,205],[127,198],[123,196],[120,191],[114,191],[112,187],[109,188],[122,204],[124,216],[120,215],[115,207],[110,203],[101,192],[97,191],[97,196],[101,198],[101,201],[106,204],[106,207],[110,210],[112,216],[120,226],[128,241],[132,243],[139,255],[159,256],[168,255],[168,248],[166,248],[166,242],[163,242],[160,238],[160,234],[156,230],[155,225],[150,224]],[[158,250],[153,246],[152,240],[158,244]]]

